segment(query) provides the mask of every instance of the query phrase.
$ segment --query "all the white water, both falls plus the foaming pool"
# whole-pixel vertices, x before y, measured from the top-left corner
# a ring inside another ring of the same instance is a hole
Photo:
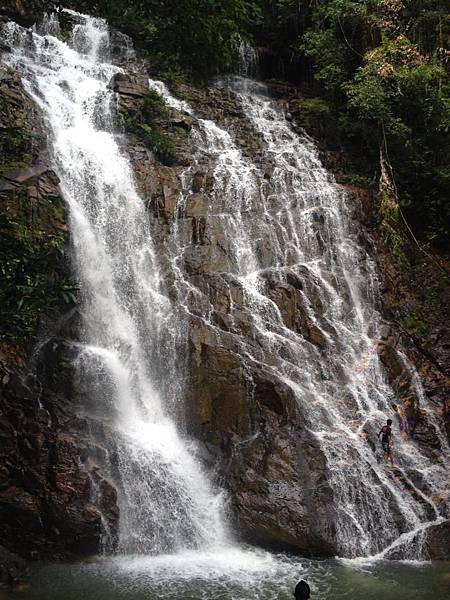
[[[161,348],[175,347],[185,326],[180,315],[189,315],[194,305],[197,312],[202,308],[211,331],[216,325],[209,318],[211,307],[183,271],[189,244],[181,221],[172,229],[168,252],[183,310],[168,299],[149,214],[114,125],[108,83],[121,69],[109,58],[108,28],[101,19],[73,17],[77,24],[67,42],[55,35],[55,20],[35,32],[7,24],[3,35],[15,50],[4,60],[20,72],[46,118],[53,166],[69,209],[83,315],[78,368],[96,382],[96,404],[114,431],[119,551],[153,556],[71,567],[66,571],[70,581],[64,581],[62,567],[50,567],[39,576],[41,591],[28,597],[45,597],[42,590],[54,577],[55,599],[83,594],[287,598],[294,579],[305,572],[318,597],[325,598],[333,581],[339,589],[346,567],[235,544],[223,493],[204,473],[195,442],[180,432],[172,414],[183,403],[183,375],[176,357]],[[195,109],[171,96],[161,82],[150,85],[170,106],[195,116]],[[432,498],[442,495],[446,472],[411,442],[396,448],[400,482],[367,443],[366,435],[376,437],[390,412],[393,392],[376,352],[381,326],[376,265],[360,240],[351,203],[321,165],[313,141],[293,131],[262,84],[232,78],[220,85],[237,95],[262,141],[256,162],[244,155],[233,131],[211,120],[196,119],[191,132],[194,161],[213,167],[207,218],[226,240],[221,270],[242,289],[240,310],[251,320],[256,340],[242,333],[242,316],[233,307],[229,335],[249,363],[274,357],[264,367],[294,390],[305,426],[327,460],[339,554],[382,558],[406,534],[411,543],[403,555],[417,558],[420,542],[414,532],[441,518]],[[182,176],[180,215],[192,195],[192,175],[189,167]],[[308,332],[288,328],[268,293],[272,279],[288,277],[304,282]],[[320,343],[313,343],[311,332]],[[166,373],[173,381],[162,386]],[[448,452],[440,426],[430,417],[442,451]],[[416,493],[405,493],[405,486]],[[371,569],[351,585],[364,589],[367,577],[373,584],[367,598],[381,593],[400,598],[389,595],[376,567]],[[395,586],[402,577],[397,575],[390,576]],[[350,585],[348,573],[343,581]],[[168,591],[171,585],[175,595]],[[347,595],[348,586],[342,585],[342,594],[333,597],[360,597]],[[441,584],[436,585],[438,595],[420,597],[441,597]],[[404,597],[419,596],[411,591]]]

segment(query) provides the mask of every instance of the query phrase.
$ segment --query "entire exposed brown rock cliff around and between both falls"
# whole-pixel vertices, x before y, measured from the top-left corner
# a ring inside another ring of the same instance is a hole
[[[151,111],[149,116],[146,67],[133,64],[127,70],[110,82],[117,102],[116,126],[128,133],[123,150],[131,158],[148,207],[167,295],[188,315],[186,338],[178,348],[186,353],[188,433],[202,442],[205,464],[228,490],[232,518],[244,539],[304,554],[333,555],[336,508],[326,457],[305,426],[304,408],[292,387],[277,374],[277,356],[260,344],[242,282],[232,274],[232,240],[224,238],[218,216],[208,212],[215,164],[199,150],[190,132],[199,119],[213,119],[231,132],[244,157],[259,161],[267,181],[273,164],[264,162],[261,137],[228,89],[178,84],[177,97],[189,101],[196,117],[174,108]],[[294,107],[298,90],[272,88],[280,105]],[[7,223],[16,223],[20,213],[20,222],[36,236],[36,243],[57,239],[58,252],[50,254],[47,269],[70,273],[63,201],[58,178],[48,164],[45,126],[19,77],[4,67],[0,101],[0,141],[7,157],[0,180],[2,215]],[[152,128],[150,138],[142,135],[146,131],[142,125]],[[336,153],[324,157],[330,166],[333,160],[336,164]],[[180,208],[179,197],[186,189],[189,195]],[[362,243],[377,259],[385,281],[386,326],[376,352],[415,440],[440,461],[439,440],[427,426],[420,388],[399,351],[416,366],[436,415],[447,417],[449,344],[443,311],[448,282],[437,268],[419,259],[409,271],[411,278],[406,277],[378,236],[374,194],[355,187],[350,192]],[[175,230],[184,247],[179,268],[193,290],[187,295],[169,262]],[[17,230],[3,233],[18,237]],[[290,269],[267,269],[263,292],[277,307],[284,326],[320,353],[327,339],[310,316],[303,290],[308,290],[319,319],[324,307],[314,296],[310,277],[306,270],[299,275]],[[417,277],[426,277],[433,298],[439,296],[433,301],[431,322],[425,314],[430,299],[423,297]],[[47,283],[39,281],[40,286]],[[48,289],[53,293],[56,288]],[[20,311],[17,302],[15,306]],[[51,311],[39,303],[33,307],[33,335],[29,329],[22,339],[2,338],[2,544],[26,558],[93,553],[102,544],[113,549],[119,517],[117,481],[114,457],[106,456],[103,443],[111,434],[108,424],[95,418],[95,410],[87,409],[88,385],[80,379],[73,345],[80,335],[77,308],[72,302],[67,306],[64,299],[52,300]],[[418,314],[419,320],[411,316]],[[27,345],[25,339],[31,342]],[[253,358],[246,353],[250,346]],[[433,530],[431,557],[445,555],[446,532],[445,527]]]

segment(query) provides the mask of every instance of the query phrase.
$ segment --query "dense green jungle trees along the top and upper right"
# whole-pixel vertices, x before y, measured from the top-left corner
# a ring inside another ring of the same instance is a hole
[[[67,2],[62,4],[67,5]],[[129,33],[159,74],[230,69],[236,39],[263,75],[304,91],[302,109],[377,178],[380,148],[423,243],[450,249],[450,16],[445,0],[84,0],[77,10]]]

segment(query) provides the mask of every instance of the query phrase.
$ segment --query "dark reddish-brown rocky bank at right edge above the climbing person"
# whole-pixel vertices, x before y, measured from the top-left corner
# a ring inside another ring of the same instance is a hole
[[[383,303],[385,314],[392,320],[390,348],[381,354],[390,381],[409,411],[419,439],[432,448],[439,448],[436,440],[429,438],[429,431],[418,410],[417,390],[411,386],[396,351],[403,351],[415,365],[426,397],[438,411],[450,436],[449,407],[449,344],[450,327],[447,318],[450,301],[448,276],[444,268],[448,261],[438,257],[439,262],[422,254],[412,255],[407,268],[399,268],[379,243],[380,266],[385,274]]]

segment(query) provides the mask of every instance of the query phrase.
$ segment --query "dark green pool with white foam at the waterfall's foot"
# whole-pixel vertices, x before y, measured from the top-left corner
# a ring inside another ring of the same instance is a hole
[[[448,600],[449,563],[312,561],[255,550],[116,558],[35,567],[1,600],[285,600],[299,578],[311,600]]]

